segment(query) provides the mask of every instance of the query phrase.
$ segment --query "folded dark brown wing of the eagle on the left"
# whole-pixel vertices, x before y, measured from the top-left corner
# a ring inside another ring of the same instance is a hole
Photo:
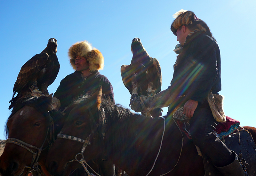
[[[29,82],[36,81],[38,73],[44,67],[48,57],[46,52],[36,54],[21,67],[20,73],[13,86],[12,98],[16,92],[19,93]]]

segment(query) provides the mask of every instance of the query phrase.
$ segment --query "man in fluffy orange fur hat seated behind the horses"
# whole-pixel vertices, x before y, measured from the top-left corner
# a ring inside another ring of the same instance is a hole
[[[60,109],[70,105],[77,97],[86,93],[95,93],[102,87],[102,97],[115,103],[114,92],[108,78],[98,70],[103,69],[104,58],[101,52],[92,48],[87,41],[77,42],[68,50],[70,64],[76,70],[61,80],[54,96],[60,100]],[[104,156],[98,159],[102,175],[114,176],[114,165]]]

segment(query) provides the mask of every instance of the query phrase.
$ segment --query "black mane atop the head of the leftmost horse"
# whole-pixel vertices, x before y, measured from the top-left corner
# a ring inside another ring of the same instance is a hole
[[[60,120],[63,115],[57,112],[57,106],[53,103],[52,99],[48,96],[39,95],[30,93],[26,95],[25,97],[20,98],[15,102],[15,105],[12,109],[11,115],[7,118],[5,127],[4,127],[4,133],[5,137],[9,136],[9,127],[7,126],[8,120],[15,114],[20,108],[23,108],[24,106],[30,106],[35,108],[39,113],[42,113],[43,116],[48,117],[48,110],[51,109],[50,114],[54,114],[56,116],[56,120]]]

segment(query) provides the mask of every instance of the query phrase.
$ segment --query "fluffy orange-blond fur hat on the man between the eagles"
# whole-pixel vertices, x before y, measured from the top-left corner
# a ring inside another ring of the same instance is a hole
[[[101,52],[96,48],[92,48],[92,45],[87,41],[76,42],[68,50],[69,61],[74,70],[76,70],[76,56],[81,56],[87,59],[90,64],[89,71],[91,72],[102,70],[104,67],[104,57]]]

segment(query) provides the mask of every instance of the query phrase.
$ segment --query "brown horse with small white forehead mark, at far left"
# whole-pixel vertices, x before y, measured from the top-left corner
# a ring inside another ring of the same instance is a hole
[[[27,176],[33,170],[40,172],[40,164],[44,175],[50,176],[44,169],[44,159],[63,120],[55,102],[52,94],[38,97],[37,93],[18,100],[5,126],[8,139],[0,157],[0,175]]]

